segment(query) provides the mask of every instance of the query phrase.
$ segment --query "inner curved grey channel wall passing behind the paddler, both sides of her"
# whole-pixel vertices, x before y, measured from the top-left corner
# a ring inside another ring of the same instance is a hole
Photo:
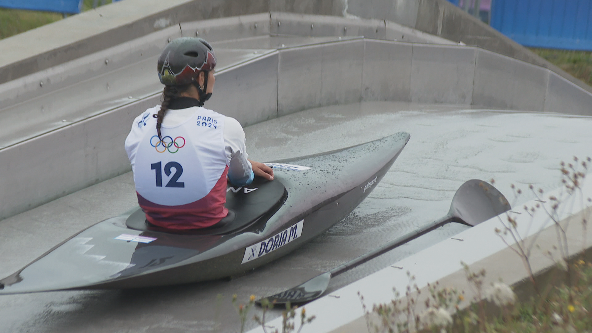
[[[223,52],[223,50],[220,50]],[[356,101],[415,101],[592,115],[592,94],[540,66],[477,47],[352,39],[287,47],[218,73],[208,107],[243,125]],[[0,149],[0,219],[130,169],[132,103]]]

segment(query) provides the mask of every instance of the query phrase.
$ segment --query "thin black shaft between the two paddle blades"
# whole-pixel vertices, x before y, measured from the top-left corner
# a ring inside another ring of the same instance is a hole
[[[368,252],[366,254],[361,255],[358,258],[355,258],[353,260],[350,260],[348,262],[346,262],[345,264],[339,265],[335,268],[333,268],[332,270],[329,271],[329,273],[331,273],[331,276],[337,276],[347,270],[350,270],[353,267],[356,267],[358,265],[363,264],[364,262],[371,260],[372,258],[378,257],[379,255],[390,251],[393,248],[396,248],[397,246],[401,246],[409,241],[413,241],[413,239],[418,238],[419,236],[423,236],[426,233],[440,228],[441,226],[445,225],[446,223],[452,222],[452,220],[454,219],[454,216],[450,216],[450,215],[446,215],[444,217],[442,217],[442,219],[439,219],[435,222],[432,222],[428,225],[423,226],[422,228],[413,230],[410,233],[407,233],[406,235],[403,235],[397,239],[392,240],[391,242],[388,242],[385,245],[382,245],[381,247],[374,249],[371,252]]]

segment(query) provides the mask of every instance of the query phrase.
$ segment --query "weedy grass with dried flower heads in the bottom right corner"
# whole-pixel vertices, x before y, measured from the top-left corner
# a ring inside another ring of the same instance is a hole
[[[488,301],[479,296],[468,308],[459,310],[464,292],[436,283],[429,286],[429,295],[423,301],[417,286],[409,286],[400,299],[374,305],[372,312],[364,308],[368,333],[590,333],[592,264],[577,259],[557,271],[564,269],[571,276],[568,281],[520,302],[509,286],[497,283],[501,286],[497,290],[488,288],[482,284],[485,272],[472,273],[465,265],[469,283]],[[410,281],[413,283],[413,279]],[[420,303],[425,303],[427,310],[419,313],[416,305]]]

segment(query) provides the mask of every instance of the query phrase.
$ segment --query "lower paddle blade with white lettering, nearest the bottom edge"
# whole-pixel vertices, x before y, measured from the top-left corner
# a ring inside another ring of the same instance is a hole
[[[319,276],[313,277],[299,286],[292,289],[288,289],[285,292],[281,292],[269,297],[269,303],[274,305],[285,305],[300,304],[310,302],[313,299],[321,296],[329,286],[329,280],[331,280],[331,273],[327,272]],[[261,305],[261,300],[257,300],[255,303]]]

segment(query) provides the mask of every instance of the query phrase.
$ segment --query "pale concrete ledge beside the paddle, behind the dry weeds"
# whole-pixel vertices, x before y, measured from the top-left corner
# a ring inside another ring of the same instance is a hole
[[[584,218],[589,220],[592,207],[582,206],[581,198],[592,197],[592,184],[588,182],[583,185],[581,197],[579,193],[576,196],[568,197],[563,188],[546,193],[545,198],[551,195],[560,198],[563,203],[558,217],[567,232],[570,250],[568,255],[571,257],[590,249],[592,233],[582,232],[583,225],[581,223]],[[528,207],[535,207],[536,204],[539,202],[535,200],[526,203]],[[551,205],[552,201],[547,200],[546,208],[549,212],[552,212]],[[554,224],[542,208],[536,210],[533,217],[530,217],[523,209],[514,209],[513,211],[522,212],[522,214],[511,213],[517,220],[519,234],[527,244],[535,244],[532,246],[532,255],[530,256],[533,271],[535,274],[540,274],[548,270],[555,265],[555,261],[549,257],[547,251],[550,251],[556,260],[561,258],[559,250],[554,248],[558,244]],[[500,218],[505,219],[505,215]],[[568,224],[570,228],[567,228]],[[328,296],[308,303],[306,305],[307,315],[316,315],[317,319],[311,324],[307,324],[305,330],[310,332],[365,332],[366,320],[358,292],[364,297],[364,302],[369,309],[374,304],[390,303],[393,299],[392,288],[404,294],[409,284],[407,271],[416,277],[414,283],[422,290],[422,294],[429,294],[427,283],[435,283],[435,281],[439,281],[441,287],[464,290],[466,300],[464,305],[461,304],[462,306],[468,305],[469,300],[476,295],[466,281],[461,261],[469,264],[471,271],[477,272],[482,268],[486,270],[484,289],[487,289],[490,283],[500,279],[510,285],[524,281],[528,276],[522,260],[494,232],[495,228],[500,227],[500,220],[498,217],[494,217],[459,233],[455,236],[456,239],[446,239],[404,260],[395,262],[393,267],[385,268],[336,290]],[[457,239],[462,239],[462,241]],[[506,241],[510,245],[516,246],[510,236],[506,236]],[[590,251],[588,251],[588,255],[590,255]],[[403,269],[394,267],[403,267]],[[339,297],[329,297],[330,295],[339,295]],[[423,297],[425,296],[422,296],[417,302],[417,313],[423,309]],[[269,322],[269,325],[281,327],[281,318]],[[298,325],[296,329],[298,329]],[[262,332],[262,329],[257,328],[249,332]]]

